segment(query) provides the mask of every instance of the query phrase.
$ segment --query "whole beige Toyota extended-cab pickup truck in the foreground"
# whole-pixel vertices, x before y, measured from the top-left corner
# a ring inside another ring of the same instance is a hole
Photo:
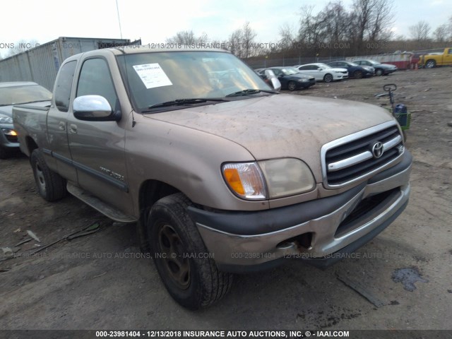
[[[233,273],[328,266],[404,210],[412,157],[385,109],[275,92],[221,50],[102,49],[52,102],[13,109],[47,201],[137,223],[169,293],[197,309]]]

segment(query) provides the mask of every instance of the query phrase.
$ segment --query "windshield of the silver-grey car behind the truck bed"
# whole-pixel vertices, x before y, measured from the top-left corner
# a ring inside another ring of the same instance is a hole
[[[52,93],[40,85],[23,85],[0,88],[0,106],[25,104],[27,102],[47,101]]]

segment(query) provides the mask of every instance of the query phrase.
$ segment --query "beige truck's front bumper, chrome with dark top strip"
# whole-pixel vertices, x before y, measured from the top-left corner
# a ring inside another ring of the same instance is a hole
[[[220,213],[190,207],[191,218],[220,270],[234,273],[301,258],[329,266],[355,251],[408,204],[412,157],[342,194],[257,212]]]

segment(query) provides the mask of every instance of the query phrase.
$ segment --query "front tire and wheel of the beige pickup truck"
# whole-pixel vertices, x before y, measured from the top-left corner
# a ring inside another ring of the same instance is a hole
[[[230,290],[232,275],[220,272],[196,225],[187,213],[184,194],[157,201],[147,226],[155,266],[169,294],[183,307],[199,309],[221,299]],[[203,254],[207,257],[201,257]]]

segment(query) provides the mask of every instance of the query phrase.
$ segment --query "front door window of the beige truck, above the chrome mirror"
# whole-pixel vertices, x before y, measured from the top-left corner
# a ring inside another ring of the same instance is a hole
[[[102,95],[114,111],[119,109],[118,97],[114,90],[112,76],[104,59],[88,59],[78,77],[76,97],[82,95]]]

